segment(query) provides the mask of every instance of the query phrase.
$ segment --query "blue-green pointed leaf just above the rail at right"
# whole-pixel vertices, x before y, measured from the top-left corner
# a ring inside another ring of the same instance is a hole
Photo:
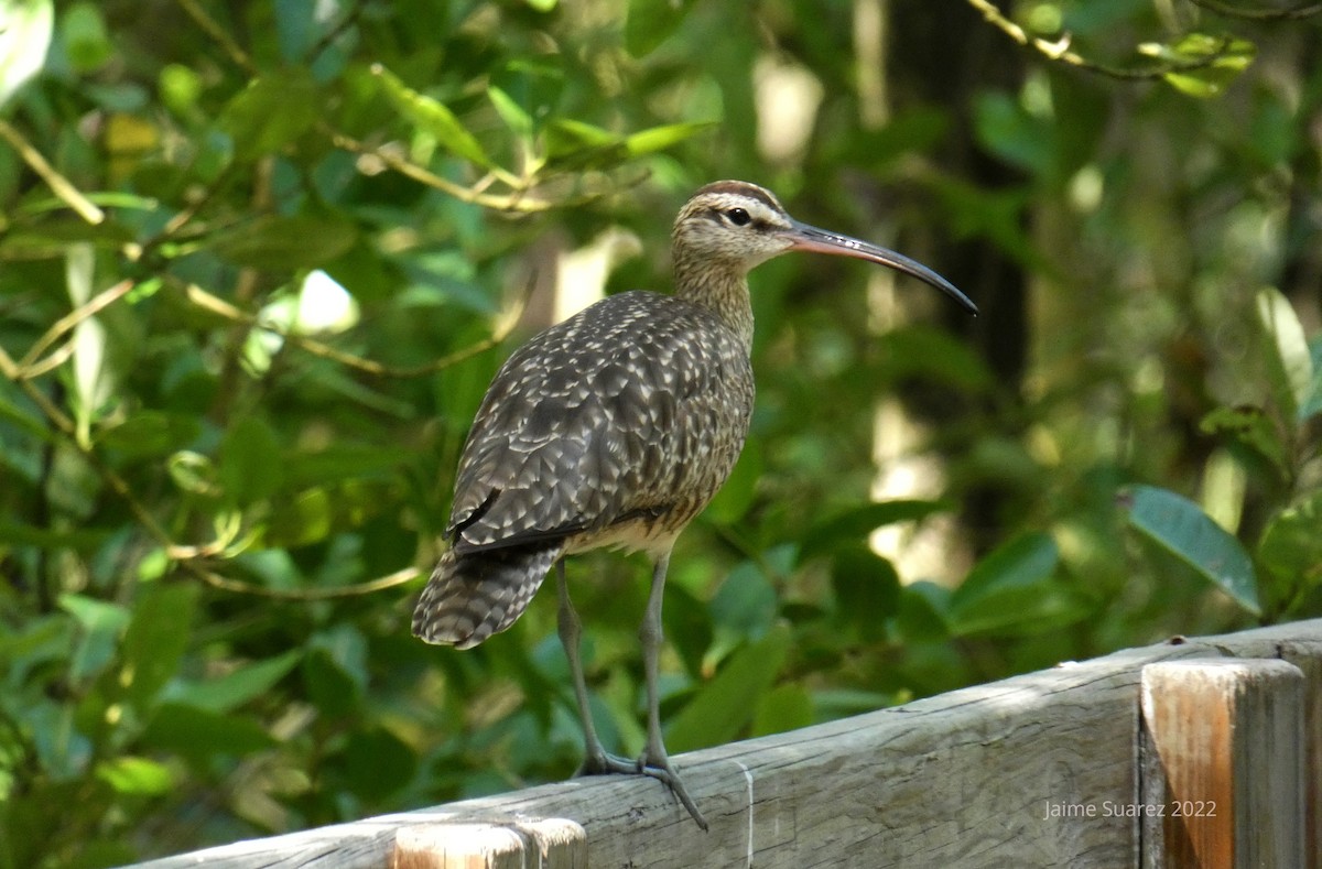
[[[1154,486],[1132,487],[1124,494],[1122,503],[1136,531],[1191,567],[1249,613],[1261,614],[1257,576],[1248,553],[1198,504]]]

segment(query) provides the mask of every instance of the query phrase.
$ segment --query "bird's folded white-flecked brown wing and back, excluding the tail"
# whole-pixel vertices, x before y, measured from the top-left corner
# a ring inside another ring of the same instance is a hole
[[[654,293],[612,296],[501,367],[464,446],[447,536],[465,552],[596,531],[683,498],[701,508],[751,409],[747,350],[715,317]]]

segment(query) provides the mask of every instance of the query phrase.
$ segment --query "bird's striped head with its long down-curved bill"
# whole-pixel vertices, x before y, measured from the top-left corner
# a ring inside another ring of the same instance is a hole
[[[746,273],[787,251],[853,256],[912,275],[977,314],[954,284],[927,265],[847,235],[789,217],[780,201],[747,181],[717,181],[698,190],[674,221],[674,256],[681,264],[726,265]]]

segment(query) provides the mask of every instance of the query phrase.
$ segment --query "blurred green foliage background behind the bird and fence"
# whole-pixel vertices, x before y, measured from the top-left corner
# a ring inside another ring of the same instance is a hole
[[[672,751],[1322,613],[1322,40],[1272,9],[0,1],[0,866],[568,775],[554,594],[467,652],[412,601],[496,367],[666,289],[718,178],[982,316],[754,273]],[[637,751],[645,565],[570,576]]]

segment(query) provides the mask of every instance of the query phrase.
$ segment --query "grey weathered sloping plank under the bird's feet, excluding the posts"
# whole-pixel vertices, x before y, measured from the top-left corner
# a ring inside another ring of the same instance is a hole
[[[1322,619],[1162,643],[683,754],[674,761],[711,823],[706,835],[660,782],[603,777],[144,865],[377,869],[390,865],[408,827],[572,819],[596,869],[1136,866],[1144,835],[1133,810],[1144,800],[1142,667],[1218,655],[1280,658],[1289,650],[1315,676],[1315,648]],[[1314,678],[1313,716],[1317,695]],[[1318,720],[1305,726],[1313,728],[1310,751]],[[1317,803],[1307,811],[1315,819]]]

